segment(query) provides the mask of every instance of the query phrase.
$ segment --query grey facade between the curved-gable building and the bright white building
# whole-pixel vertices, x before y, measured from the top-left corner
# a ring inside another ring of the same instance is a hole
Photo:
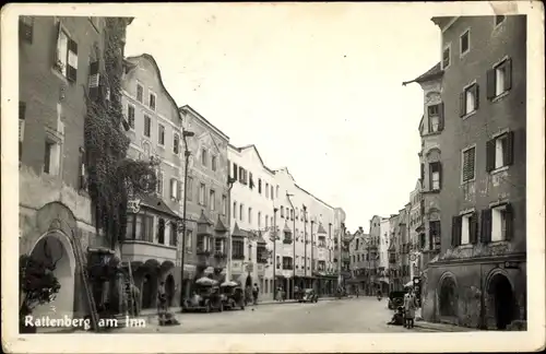
[[[191,153],[186,190],[186,255],[182,290],[190,295],[193,280],[225,279],[228,257],[229,138],[192,107],[179,108]],[[186,264],[187,263],[187,264]]]

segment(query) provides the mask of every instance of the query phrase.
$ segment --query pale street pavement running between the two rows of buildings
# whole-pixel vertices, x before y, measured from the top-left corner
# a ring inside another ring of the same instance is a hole
[[[414,329],[389,326],[393,311],[376,297],[319,299],[316,304],[278,303],[248,306],[245,310],[176,314],[180,326],[159,327],[156,317],[145,328],[119,333],[395,333],[466,331],[467,329],[415,322]]]

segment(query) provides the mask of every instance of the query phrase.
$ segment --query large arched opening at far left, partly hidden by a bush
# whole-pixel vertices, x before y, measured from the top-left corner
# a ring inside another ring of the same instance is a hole
[[[55,263],[54,274],[61,287],[55,299],[48,304],[38,305],[35,317],[49,316],[59,318],[74,314],[74,270],[75,261],[68,236],[59,231],[51,232],[38,239],[31,251],[31,257],[46,263]]]

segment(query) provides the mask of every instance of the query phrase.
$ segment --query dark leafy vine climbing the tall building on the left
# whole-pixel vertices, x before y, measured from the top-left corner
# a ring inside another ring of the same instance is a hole
[[[98,95],[87,97],[85,165],[87,190],[95,211],[97,234],[103,231],[110,248],[126,235],[130,198],[155,190],[155,162],[127,156],[129,138],[121,105],[123,46],[127,19],[107,17],[100,58]],[[98,50],[98,49],[96,49]]]

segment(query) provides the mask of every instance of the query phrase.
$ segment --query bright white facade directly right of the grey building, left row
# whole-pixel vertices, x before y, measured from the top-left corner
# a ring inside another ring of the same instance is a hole
[[[230,278],[244,285],[258,284],[262,298],[273,297],[275,174],[264,165],[254,145],[228,145],[230,193]]]

